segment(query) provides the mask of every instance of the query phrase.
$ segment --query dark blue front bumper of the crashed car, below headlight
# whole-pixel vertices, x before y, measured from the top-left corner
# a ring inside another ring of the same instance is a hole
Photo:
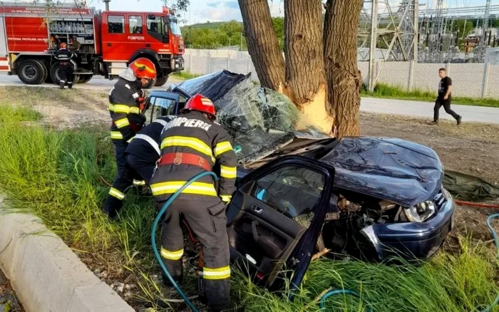
[[[453,227],[456,204],[445,189],[437,194],[433,202],[438,206],[438,213],[426,222],[373,224],[361,230],[379,260],[388,256],[424,259],[442,246]]]

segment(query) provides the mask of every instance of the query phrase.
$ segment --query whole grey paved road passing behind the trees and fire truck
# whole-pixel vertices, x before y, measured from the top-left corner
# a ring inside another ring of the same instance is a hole
[[[88,83],[78,84],[76,88],[88,88],[96,90],[110,90],[116,80],[108,80],[101,77],[92,78]],[[166,89],[172,83],[178,80],[170,79],[163,87],[155,87],[155,89]],[[17,76],[0,75],[0,85],[24,85]],[[57,88],[53,84],[39,85],[48,88]],[[428,118],[428,121],[433,120],[433,103],[418,102],[413,100],[390,100],[384,98],[362,98],[361,110],[371,113],[386,113],[394,115],[407,115],[419,118]],[[463,116],[463,123],[479,122],[479,123],[495,123],[499,124],[499,108],[484,108],[479,106],[453,105],[453,110]],[[448,115],[443,108],[440,113],[441,119],[453,118]]]

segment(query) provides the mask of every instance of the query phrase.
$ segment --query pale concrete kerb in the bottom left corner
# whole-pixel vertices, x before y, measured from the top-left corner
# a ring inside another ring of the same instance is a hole
[[[41,219],[8,213],[0,194],[0,268],[27,312],[133,312]]]

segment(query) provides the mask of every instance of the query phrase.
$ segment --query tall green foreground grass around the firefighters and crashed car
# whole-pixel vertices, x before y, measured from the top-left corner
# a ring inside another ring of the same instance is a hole
[[[9,110],[0,105],[0,116]],[[19,122],[33,116],[26,112]],[[19,122],[0,125],[0,184],[13,199],[12,207],[41,217],[92,269],[108,271],[110,280],[137,284],[129,298],[135,308],[167,311],[160,301],[173,294],[153,277],[159,269],[149,242],[152,200],[131,192],[121,221],[113,224],[100,212],[108,191],[100,176],[112,180],[115,170],[107,133],[93,128],[56,132]],[[319,311],[319,294],[334,287],[351,288],[361,299],[330,297],[326,311],[366,311],[366,305],[376,312],[480,310],[499,293],[498,261],[480,246],[465,240],[460,251],[441,251],[418,265],[314,261],[294,301],[287,299],[289,291],[269,293],[234,270],[233,297],[246,311]],[[188,283],[193,290],[195,281]]]

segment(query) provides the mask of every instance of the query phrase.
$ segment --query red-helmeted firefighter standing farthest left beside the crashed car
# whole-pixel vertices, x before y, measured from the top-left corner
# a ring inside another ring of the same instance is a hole
[[[109,190],[103,212],[110,219],[117,217],[123,205],[125,191],[140,179],[135,170],[127,166],[125,150],[130,139],[139,132],[145,123],[143,115],[143,90],[149,80],[154,79],[156,71],[153,62],[147,58],[138,58],[120,74],[109,93],[109,113],[113,122],[110,127],[111,140],[115,146],[116,167],[118,172]],[[136,185],[145,182],[135,183]]]

